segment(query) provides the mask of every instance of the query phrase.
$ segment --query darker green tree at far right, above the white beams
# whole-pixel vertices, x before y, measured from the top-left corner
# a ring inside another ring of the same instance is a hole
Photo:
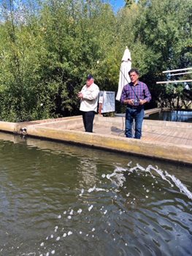
[[[165,79],[162,71],[191,67],[192,6],[188,0],[141,0],[139,5],[142,15],[137,22],[137,38],[153,53],[144,79],[157,100],[159,95],[166,95],[164,86],[155,86],[156,80]]]

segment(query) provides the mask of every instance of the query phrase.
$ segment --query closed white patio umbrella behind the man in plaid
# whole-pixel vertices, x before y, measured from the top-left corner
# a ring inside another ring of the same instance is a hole
[[[123,90],[123,86],[126,86],[127,83],[130,83],[131,80],[129,78],[128,72],[131,69],[131,53],[126,46],[126,50],[124,51],[123,58],[121,60],[120,65],[120,74],[119,74],[119,83],[118,83],[118,93],[116,99],[120,101],[121,93]]]

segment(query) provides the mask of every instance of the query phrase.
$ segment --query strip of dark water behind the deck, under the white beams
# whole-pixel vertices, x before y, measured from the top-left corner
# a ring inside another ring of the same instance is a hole
[[[192,123],[192,111],[165,110],[150,114],[149,116],[146,116],[145,119]]]

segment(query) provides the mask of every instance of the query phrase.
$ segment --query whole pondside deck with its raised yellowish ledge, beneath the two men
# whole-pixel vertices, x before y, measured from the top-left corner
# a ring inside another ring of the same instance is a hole
[[[0,121],[0,130],[192,165],[191,123],[145,119],[141,140],[125,137],[125,116],[96,115],[93,133],[84,132],[82,116],[23,123]]]

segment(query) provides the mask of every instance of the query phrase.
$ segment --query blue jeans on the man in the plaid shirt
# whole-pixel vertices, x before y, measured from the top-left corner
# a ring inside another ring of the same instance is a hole
[[[135,121],[135,139],[142,137],[142,121],[144,118],[144,108],[126,108],[126,137],[133,138],[132,127]]]

